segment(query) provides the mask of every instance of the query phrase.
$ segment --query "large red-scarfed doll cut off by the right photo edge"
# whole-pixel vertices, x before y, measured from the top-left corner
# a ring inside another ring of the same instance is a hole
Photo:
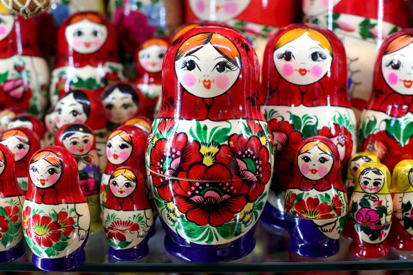
[[[361,116],[361,151],[377,155],[390,171],[413,157],[413,30],[385,41],[374,68],[372,96]]]

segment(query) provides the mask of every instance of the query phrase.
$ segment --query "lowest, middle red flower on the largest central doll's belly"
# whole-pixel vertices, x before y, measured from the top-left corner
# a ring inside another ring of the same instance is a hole
[[[248,202],[248,186],[237,177],[231,177],[229,168],[223,164],[193,164],[178,178],[180,180],[173,184],[176,206],[189,221],[198,225],[216,227],[227,223]]]

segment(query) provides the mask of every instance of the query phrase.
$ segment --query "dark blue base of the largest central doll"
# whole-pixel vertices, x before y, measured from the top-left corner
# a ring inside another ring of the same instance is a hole
[[[251,228],[244,236],[231,243],[224,245],[197,245],[188,243],[175,232],[173,232],[165,223],[162,222],[165,231],[165,248],[169,254],[178,259],[191,261],[194,263],[224,263],[235,261],[253,251],[255,248],[255,226]]]

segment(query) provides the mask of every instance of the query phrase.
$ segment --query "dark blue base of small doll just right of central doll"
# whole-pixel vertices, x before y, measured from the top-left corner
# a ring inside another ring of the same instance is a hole
[[[286,225],[290,234],[290,250],[308,258],[326,258],[340,250],[339,240],[330,239],[310,219],[286,213]]]

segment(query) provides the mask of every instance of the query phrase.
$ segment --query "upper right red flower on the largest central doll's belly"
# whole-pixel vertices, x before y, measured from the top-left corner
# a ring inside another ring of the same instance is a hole
[[[264,192],[271,177],[270,153],[256,136],[234,133],[229,137],[228,144],[221,146],[217,160],[248,185],[249,201],[255,201]]]

